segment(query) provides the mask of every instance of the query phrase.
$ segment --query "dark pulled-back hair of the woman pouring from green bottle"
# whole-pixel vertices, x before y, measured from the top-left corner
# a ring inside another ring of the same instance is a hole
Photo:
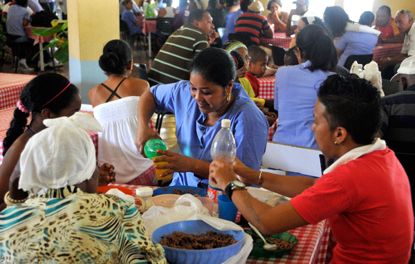
[[[206,48],[193,60],[189,69],[190,73],[199,73],[223,88],[237,77],[234,59],[221,48]]]

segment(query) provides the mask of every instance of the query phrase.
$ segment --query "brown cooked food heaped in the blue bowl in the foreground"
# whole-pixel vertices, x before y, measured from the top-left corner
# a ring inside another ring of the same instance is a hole
[[[205,234],[185,234],[183,232],[174,232],[167,236],[161,237],[160,244],[166,247],[177,249],[213,249],[218,247],[227,247],[237,243],[233,236],[208,231]]]

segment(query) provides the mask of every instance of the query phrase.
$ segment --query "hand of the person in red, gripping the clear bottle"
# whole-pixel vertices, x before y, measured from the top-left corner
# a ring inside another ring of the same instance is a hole
[[[224,190],[229,182],[237,180],[237,176],[232,169],[232,164],[225,160],[214,160],[210,163],[209,180]]]

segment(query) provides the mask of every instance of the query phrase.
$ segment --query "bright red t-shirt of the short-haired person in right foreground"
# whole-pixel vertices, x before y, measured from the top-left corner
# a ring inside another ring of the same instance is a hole
[[[408,263],[414,238],[409,180],[393,151],[340,165],[291,200],[308,223],[329,218],[332,263]]]

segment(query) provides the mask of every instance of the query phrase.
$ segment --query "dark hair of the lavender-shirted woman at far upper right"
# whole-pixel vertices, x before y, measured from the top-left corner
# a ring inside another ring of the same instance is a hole
[[[349,15],[340,6],[329,6],[324,10],[324,23],[331,30],[333,37],[340,37],[344,33]]]

